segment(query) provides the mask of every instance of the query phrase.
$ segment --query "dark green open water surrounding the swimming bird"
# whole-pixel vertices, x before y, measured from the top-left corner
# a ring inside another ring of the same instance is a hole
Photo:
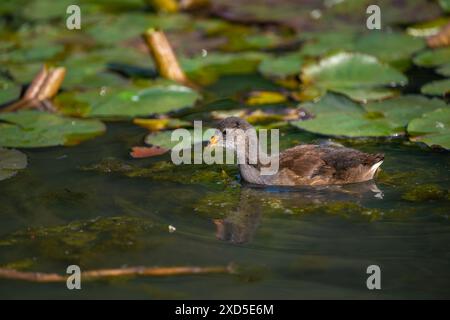
[[[0,280],[0,298],[450,298],[448,153],[402,140],[344,142],[385,153],[375,192],[242,186],[232,168],[225,184],[190,182],[199,172],[220,176],[216,167],[155,179],[81,170],[109,157],[143,168],[170,160],[130,160],[145,134],[110,123],[76,147],[24,150],[29,167],[0,182],[0,264],[65,273],[70,264],[234,263],[239,273],[85,282],[78,291]],[[281,138],[320,140],[296,130]],[[378,291],[366,287],[372,264],[381,268]]]

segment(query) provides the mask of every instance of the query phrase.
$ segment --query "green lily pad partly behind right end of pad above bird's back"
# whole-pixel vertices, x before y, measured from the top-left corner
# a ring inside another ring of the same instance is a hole
[[[364,105],[364,109],[373,114],[381,114],[384,118],[396,123],[398,127],[405,127],[412,119],[445,106],[445,102],[441,99],[405,95],[379,102],[369,102]]]

